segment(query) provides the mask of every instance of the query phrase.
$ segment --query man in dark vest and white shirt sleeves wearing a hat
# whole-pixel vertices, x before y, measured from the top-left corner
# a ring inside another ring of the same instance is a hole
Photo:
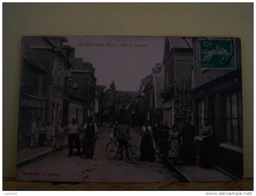
[[[87,123],[84,124],[84,148],[85,148],[85,159],[92,159],[94,155],[94,147],[95,147],[95,135],[98,132],[97,125],[92,122],[93,117],[89,117]]]

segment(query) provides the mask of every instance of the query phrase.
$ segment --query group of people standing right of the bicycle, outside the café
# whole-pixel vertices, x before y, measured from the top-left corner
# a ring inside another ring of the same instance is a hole
[[[204,126],[201,130],[201,153],[199,165],[204,168],[211,168],[214,164],[214,143],[213,128],[209,125],[209,119],[204,119]],[[190,119],[185,119],[185,125],[178,130],[178,126],[172,128],[166,125],[159,126],[154,123],[153,128],[149,121],[145,121],[142,126],[142,140],[140,144],[140,161],[156,163],[155,153],[159,151],[162,155],[163,163],[168,164],[173,160],[173,165],[177,165],[177,160],[183,161],[185,165],[195,165],[196,157],[196,131],[193,125],[190,125]]]

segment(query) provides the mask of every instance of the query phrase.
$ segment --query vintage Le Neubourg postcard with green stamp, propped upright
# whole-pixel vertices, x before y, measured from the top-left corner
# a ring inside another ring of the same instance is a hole
[[[17,180],[243,178],[232,37],[23,37]]]

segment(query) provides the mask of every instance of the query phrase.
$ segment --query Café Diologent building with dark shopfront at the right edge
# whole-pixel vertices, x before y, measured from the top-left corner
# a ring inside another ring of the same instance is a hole
[[[243,177],[243,119],[240,40],[233,40],[236,51],[231,69],[200,69],[199,41],[194,39],[195,80],[193,125],[196,128],[196,150],[200,156],[203,119],[209,118],[214,129],[217,168],[237,178]]]

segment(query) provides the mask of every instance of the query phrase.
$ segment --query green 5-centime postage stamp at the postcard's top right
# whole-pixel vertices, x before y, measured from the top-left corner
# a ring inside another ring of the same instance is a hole
[[[199,39],[200,68],[234,69],[235,43],[229,38]]]

